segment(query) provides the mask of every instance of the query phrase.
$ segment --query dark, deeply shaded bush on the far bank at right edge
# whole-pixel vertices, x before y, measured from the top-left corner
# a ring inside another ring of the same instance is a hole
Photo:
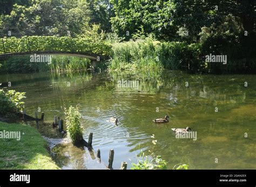
[[[256,34],[211,34],[202,42],[201,56],[227,55],[227,64],[207,63],[211,73],[255,73],[256,72]]]

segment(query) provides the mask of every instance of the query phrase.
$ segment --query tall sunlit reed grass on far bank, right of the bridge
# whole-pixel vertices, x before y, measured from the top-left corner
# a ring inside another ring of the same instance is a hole
[[[184,42],[159,42],[152,38],[113,44],[110,70],[190,69],[189,64],[201,68],[200,45]],[[195,66],[194,66],[195,67]]]

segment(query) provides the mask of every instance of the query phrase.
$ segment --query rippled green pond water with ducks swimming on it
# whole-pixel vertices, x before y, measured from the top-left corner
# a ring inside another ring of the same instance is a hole
[[[119,169],[122,161],[130,168],[141,149],[152,150],[152,140],[157,140],[153,152],[168,162],[168,169],[178,163],[188,164],[189,169],[256,169],[255,80],[256,75],[193,75],[167,70],[149,79],[105,72],[0,75],[1,87],[11,82],[8,89],[26,92],[26,112],[33,116],[40,107],[46,124],[51,124],[55,115],[64,118],[61,106],[80,104],[84,138],[93,132],[93,148],[100,149],[104,163],[114,149],[114,169]],[[170,117],[169,123],[152,121],[165,115]],[[118,126],[110,122],[111,117],[118,118]],[[197,140],[177,139],[171,130],[187,126],[197,132]],[[39,131],[56,138],[50,125],[41,124]],[[57,158],[64,160],[60,167],[86,168],[81,167],[87,160],[80,149],[63,147],[59,152],[63,155]]]

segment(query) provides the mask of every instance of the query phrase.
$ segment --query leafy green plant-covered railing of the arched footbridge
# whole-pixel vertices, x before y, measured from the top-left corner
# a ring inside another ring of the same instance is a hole
[[[22,52],[80,52],[104,56],[112,54],[112,47],[104,41],[90,41],[70,37],[10,37],[1,38],[0,54]]]

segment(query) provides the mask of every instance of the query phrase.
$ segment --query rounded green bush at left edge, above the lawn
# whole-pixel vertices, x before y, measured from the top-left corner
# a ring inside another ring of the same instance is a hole
[[[25,92],[0,89],[0,116],[15,116],[24,109]]]

